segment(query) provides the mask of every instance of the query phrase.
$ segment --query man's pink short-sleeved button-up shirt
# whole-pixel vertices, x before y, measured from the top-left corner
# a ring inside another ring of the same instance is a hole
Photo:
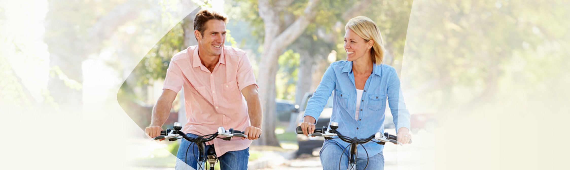
[[[170,60],[164,87],[179,92],[184,87],[184,106],[188,123],[182,131],[196,135],[217,132],[218,127],[245,131],[251,125],[241,90],[255,83],[246,52],[223,46],[218,64],[210,72],[198,57],[198,46],[178,52]],[[234,137],[230,141],[214,139],[218,156],[228,151],[246,149],[251,140]]]

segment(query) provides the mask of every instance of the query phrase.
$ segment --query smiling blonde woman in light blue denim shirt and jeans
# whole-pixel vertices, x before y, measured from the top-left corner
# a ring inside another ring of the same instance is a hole
[[[355,17],[345,26],[344,49],[347,60],[334,62],[327,68],[323,79],[307,104],[303,123],[303,134],[314,132],[316,118],[319,118],[327,99],[334,91],[331,122],[341,124],[340,133],[345,136],[364,138],[376,132],[384,132],[386,98],[396,126],[398,141],[406,144],[412,138],[409,134],[410,114],[406,110],[400,89],[400,79],[392,66],[382,64],[384,44],[376,23],[367,17]],[[349,145],[340,139],[325,140],[320,151],[323,169],[347,169]],[[368,152],[359,145],[357,167],[384,169],[384,145],[364,144]],[[342,155],[342,156],[341,156]]]

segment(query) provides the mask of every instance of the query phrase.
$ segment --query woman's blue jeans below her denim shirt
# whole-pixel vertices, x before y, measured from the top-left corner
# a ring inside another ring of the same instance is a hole
[[[323,170],[339,170],[339,160],[340,169],[348,169],[348,159],[350,156],[349,150],[347,148],[344,153],[344,148],[337,145],[334,141],[325,140],[323,143],[323,148],[320,151],[321,165],[323,165]],[[366,155],[366,153],[358,153]],[[342,158],[341,156],[342,155]],[[366,166],[366,159],[356,159],[356,169],[364,169]],[[369,157],[368,166],[366,169],[384,169],[384,155],[382,152]]]

